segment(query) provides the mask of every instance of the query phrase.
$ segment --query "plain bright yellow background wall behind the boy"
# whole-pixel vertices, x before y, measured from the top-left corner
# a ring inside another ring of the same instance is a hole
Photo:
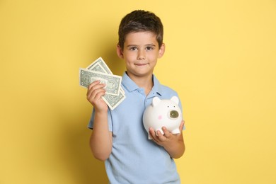
[[[276,183],[276,1],[0,1],[0,183],[107,183],[79,68],[134,9],[163,21],[155,74],[183,103],[183,183]],[[162,176],[160,176],[162,177]]]

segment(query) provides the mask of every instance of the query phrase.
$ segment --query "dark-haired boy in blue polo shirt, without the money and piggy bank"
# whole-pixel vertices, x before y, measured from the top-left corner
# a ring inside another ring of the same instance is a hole
[[[185,151],[184,121],[180,134],[171,134],[166,127],[164,134],[150,128],[152,140],[142,122],[144,110],[154,96],[178,96],[153,74],[157,59],[164,52],[159,17],[149,11],[132,11],[122,18],[117,44],[117,55],[125,60],[127,69],[122,76],[125,100],[110,110],[101,98],[105,84],[94,81],[88,87],[87,100],[93,105],[88,125],[93,129],[90,146],[95,158],[105,161],[110,183],[180,183],[173,159]]]

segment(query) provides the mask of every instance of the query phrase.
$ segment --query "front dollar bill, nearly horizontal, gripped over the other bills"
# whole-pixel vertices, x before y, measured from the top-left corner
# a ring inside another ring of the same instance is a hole
[[[104,74],[98,71],[91,71],[88,69],[79,69],[79,74],[81,86],[88,88],[88,86],[93,81],[100,80],[101,83],[105,83],[105,93],[115,96],[118,96],[120,93],[122,76]]]

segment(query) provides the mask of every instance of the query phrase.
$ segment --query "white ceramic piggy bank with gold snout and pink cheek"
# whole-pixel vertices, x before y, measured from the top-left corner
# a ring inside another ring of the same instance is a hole
[[[144,128],[149,133],[149,127],[163,134],[162,127],[166,127],[172,134],[179,134],[179,126],[182,121],[182,113],[178,106],[179,99],[173,96],[170,100],[161,100],[158,97],[152,99],[151,105],[144,110]],[[151,139],[149,135],[149,139]]]

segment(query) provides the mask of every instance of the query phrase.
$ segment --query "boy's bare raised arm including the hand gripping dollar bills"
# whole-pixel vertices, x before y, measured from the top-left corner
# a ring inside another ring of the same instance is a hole
[[[94,81],[88,86],[86,98],[95,109],[90,147],[96,159],[105,161],[110,156],[113,144],[112,132],[108,130],[108,105],[101,98],[105,94],[105,84]]]

